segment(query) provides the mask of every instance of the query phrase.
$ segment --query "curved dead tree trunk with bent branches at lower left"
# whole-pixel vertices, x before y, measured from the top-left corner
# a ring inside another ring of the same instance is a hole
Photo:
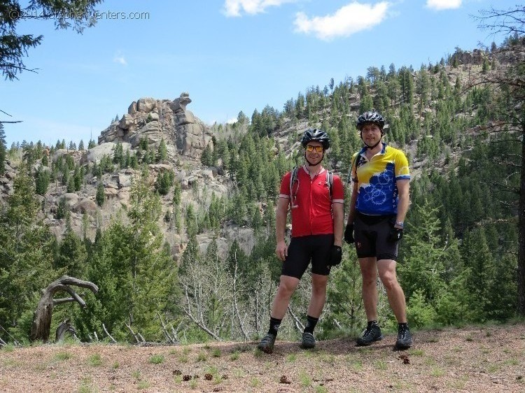
[[[58,304],[69,303],[71,301],[76,301],[82,308],[85,307],[85,301],[80,296],[78,296],[78,294],[70,287],[70,285],[87,288],[94,294],[99,292],[99,287],[90,281],[79,280],[78,278],[69,276],[62,276],[58,280],[50,283],[50,285],[48,285],[48,287],[43,290],[40,301],[38,302],[38,306],[36,306],[36,310],[34,312],[33,323],[31,324],[31,334],[29,334],[31,341],[49,341],[53,307],[57,306]],[[53,296],[55,296],[55,294],[60,291],[69,293],[71,297],[53,299]]]

